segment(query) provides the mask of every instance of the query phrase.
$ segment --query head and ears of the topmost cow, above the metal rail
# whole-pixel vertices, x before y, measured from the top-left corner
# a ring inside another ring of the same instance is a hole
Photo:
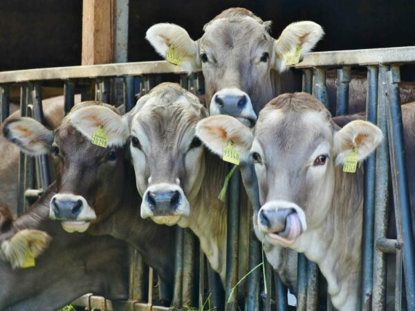
[[[207,23],[197,41],[171,23],[151,26],[146,38],[162,57],[173,48],[188,73],[202,69],[210,115],[232,115],[252,126],[277,93],[275,80],[287,68],[286,57],[310,51],[324,34],[317,23],[300,21],[274,39],[270,24],[230,8]]]

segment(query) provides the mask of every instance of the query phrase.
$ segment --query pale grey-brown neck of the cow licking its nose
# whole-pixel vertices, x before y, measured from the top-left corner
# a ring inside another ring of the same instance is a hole
[[[362,167],[356,173],[335,167],[331,209],[321,227],[308,232],[297,249],[319,265],[333,305],[340,310],[357,310],[360,302],[362,211]]]

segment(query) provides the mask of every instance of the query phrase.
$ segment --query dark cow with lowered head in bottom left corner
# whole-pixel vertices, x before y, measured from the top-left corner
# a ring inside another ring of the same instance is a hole
[[[0,261],[0,310],[54,310],[90,292],[114,301],[128,298],[126,243],[111,236],[64,232],[58,222],[48,219],[55,192],[53,184],[11,224],[1,217],[9,227],[1,234],[0,257],[18,265],[26,259],[26,250],[38,257],[35,266],[25,269],[13,270],[10,263]],[[0,214],[11,212],[3,206]]]

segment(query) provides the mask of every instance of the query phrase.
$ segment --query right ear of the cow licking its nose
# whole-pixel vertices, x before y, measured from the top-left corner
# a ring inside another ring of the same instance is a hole
[[[382,131],[370,122],[356,120],[346,124],[334,136],[336,164],[344,164],[355,148],[358,160],[365,160],[382,142],[382,138]]]

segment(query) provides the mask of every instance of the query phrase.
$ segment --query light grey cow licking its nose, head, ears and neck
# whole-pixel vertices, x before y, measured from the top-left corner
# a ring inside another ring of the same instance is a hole
[[[409,125],[415,118],[415,104],[402,107],[405,146],[412,153]],[[382,141],[382,131],[362,120],[340,129],[314,97],[294,93],[280,95],[266,105],[254,134],[222,115],[199,122],[196,135],[214,153],[222,153],[232,140],[242,161],[255,163],[261,209],[253,222],[268,261],[273,264],[274,245],[304,252],[319,265],[335,308],[357,310],[363,169],[347,173],[342,166],[351,153],[359,162],[367,158]],[[414,164],[407,164],[412,171]],[[410,185],[413,179],[409,176]]]

